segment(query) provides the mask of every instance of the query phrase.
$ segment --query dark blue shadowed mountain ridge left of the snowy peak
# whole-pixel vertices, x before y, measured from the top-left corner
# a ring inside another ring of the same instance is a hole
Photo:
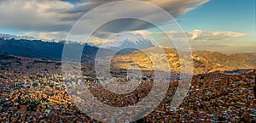
[[[73,49],[83,47],[80,43],[69,43]],[[43,42],[41,40],[26,39],[3,39],[0,38],[0,53],[9,53],[15,56],[34,58],[34,59],[50,59],[61,60],[64,42]],[[98,48],[84,44],[84,59],[94,59]]]

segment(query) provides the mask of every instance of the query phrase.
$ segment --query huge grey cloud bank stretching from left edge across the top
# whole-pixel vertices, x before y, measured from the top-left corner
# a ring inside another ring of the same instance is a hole
[[[114,0],[79,0],[73,4],[68,0],[1,0],[0,1],[0,27],[3,29],[16,29],[22,31],[32,31],[32,33],[44,32],[68,32],[73,24],[79,18],[90,11],[92,8],[102,5],[103,3],[113,2]],[[209,0],[143,0],[144,2],[153,3],[166,9],[174,17],[184,14],[189,10],[207,3]],[[114,8],[114,7],[113,7]],[[143,7],[140,7],[145,11]],[[130,10],[129,6],[124,8],[114,8],[115,10]],[[131,13],[137,14],[137,12]],[[152,11],[151,11],[152,12]],[[102,10],[101,13],[106,15],[114,14],[112,11]],[[125,14],[125,13],[124,13]],[[96,15],[95,15],[96,16]],[[148,18],[158,19],[159,14],[145,14]],[[93,19],[88,22],[93,24]],[[164,22],[163,22],[164,23]],[[122,27],[128,31],[143,30],[148,24],[137,20],[119,20],[102,28],[102,31],[113,31],[113,26]],[[90,27],[88,27],[90,28]],[[120,29],[121,30],[121,29]],[[118,30],[118,31],[120,31]],[[116,32],[116,31],[113,31]],[[40,34],[35,34],[40,35]]]

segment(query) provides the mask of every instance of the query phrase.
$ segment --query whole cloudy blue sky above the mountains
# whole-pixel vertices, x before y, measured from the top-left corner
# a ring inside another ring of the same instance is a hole
[[[0,33],[33,36],[39,39],[65,40],[73,25],[87,12],[114,0],[2,0],[0,1]],[[209,50],[221,53],[256,53],[255,0],[142,0],[152,3],[172,14],[189,39],[193,50]],[[117,5],[118,6],[118,5]],[[138,9],[145,18],[156,20],[161,26],[172,25],[161,20],[154,10]],[[84,23],[94,24],[94,20],[105,20],[99,14],[113,15],[113,11],[131,7],[102,8]],[[124,11],[122,13],[122,11]],[[148,12],[148,14],[147,14]],[[129,13],[128,13],[129,14]],[[139,15],[139,14],[137,14]],[[114,28],[117,27],[118,29]],[[90,27],[86,27],[88,30]],[[81,29],[87,30],[87,29]],[[169,42],[162,32],[137,20],[117,20],[103,25],[95,36],[95,43],[108,42],[108,36],[119,31],[131,31],[145,37],[155,36],[155,40]],[[167,31],[176,36],[177,31]],[[112,41],[113,42],[113,41]]]

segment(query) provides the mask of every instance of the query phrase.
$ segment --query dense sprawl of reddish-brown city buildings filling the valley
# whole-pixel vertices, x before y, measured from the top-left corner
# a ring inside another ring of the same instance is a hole
[[[98,122],[76,107],[59,74],[21,74],[9,71],[0,73],[0,122]],[[139,89],[128,95],[117,95],[104,89],[101,82],[94,77],[84,77],[84,81],[79,82],[84,82],[90,92],[102,102],[119,107],[138,103],[154,85],[151,79],[143,79]],[[162,103],[137,122],[256,120],[253,70],[195,75],[183,103],[176,110],[170,110],[177,86],[178,81],[171,81]],[[136,115],[127,116],[133,118]]]

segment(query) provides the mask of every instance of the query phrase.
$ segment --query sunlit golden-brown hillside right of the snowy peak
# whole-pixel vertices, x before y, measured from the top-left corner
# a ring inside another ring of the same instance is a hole
[[[152,56],[166,57],[171,70],[178,71],[182,66],[179,62],[177,51],[171,48],[163,48],[165,53],[154,53],[157,48],[148,48],[113,58],[112,67],[127,69],[130,65],[137,65],[143,70],[154,70],[154,65],[146,53]],[[181,53],[183,54],[183,53]],[[189,56],[183,57],[186,60]],[[195,51],[193,52],[194,74],[204,74],[213,71],[240,70],[256,68],[255,53],[224,54],[218,52]],[[165,61],[159,60],[158,63]]]

